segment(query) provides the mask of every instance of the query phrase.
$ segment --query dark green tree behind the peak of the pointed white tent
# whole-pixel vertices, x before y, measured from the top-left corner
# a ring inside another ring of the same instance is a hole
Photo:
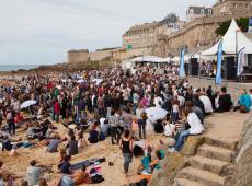
[[[242,32],[247,32],[249,28],[249,19],[248,18],[240,18],[237,19],[237,24],[241,28]],[[226,32],[228,31],[229,26],[231,24],[231,20],[225,21],[219,24],[219,26],[216,28],[215,33],[219,36],[224,36]]]

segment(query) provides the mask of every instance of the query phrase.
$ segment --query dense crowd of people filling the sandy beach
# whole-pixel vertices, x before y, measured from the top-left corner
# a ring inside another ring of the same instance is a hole
[[[153,68],[138,66],[130,72],[123,69],[85,70],[80,73],[36,74],[23,77],[12,85],[0,86],[0,138],[2,151],[11,156],[19,148],[45,147],[45,153],[60,153],[60,186],[103,182],[100,163],[104,159],[71,164],[71,156],[87,146],[95,146],[108,136],[112,146],[122,150],[124,173],[127,176],[131,159],[140,158],[139,183],[148,183],[153,170],[165,153],[179,153],[188,136],[204,132],[204,118],[211,113],[252,108],[252,90],[241,90],[238,102],[232,101],[224,86],[192,88],[177,79],[177,67],[162,65]],[[32,103],[33,104],[24,104]],[[149,114],[148,108],[157,112]],[[164,117],[152,119],[158,111]],[[57,125],[68,129],[60,136]],[[16,128],[23,128],[21,137]],[[174,139],[169,149],[163,141],[157,147],[146,142],[149,131]],[[85,138],[84,135],[88,133]],[[60,147],[60,148],[59,148]],[[102,154],[101,154],[102,155]],[[156,156],[153,159],[153,156]],[[0,185],[23,178],[22,185],[48,185],[43,177],[48,166],[31,160],[26,175],[4,170],[0,161]],[[90,167],[90,168],[89,168]]]

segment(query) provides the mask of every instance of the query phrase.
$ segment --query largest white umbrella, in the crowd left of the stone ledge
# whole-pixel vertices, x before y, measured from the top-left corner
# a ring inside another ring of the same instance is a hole
[[[146,114],[150,121],[156,121],[165,118],[168,112],[160,107],[150,107],[146,109]]]

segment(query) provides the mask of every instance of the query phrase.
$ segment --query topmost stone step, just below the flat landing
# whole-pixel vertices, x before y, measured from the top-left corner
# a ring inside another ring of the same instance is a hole
[[[238,140],[220,140],[220,139],[214,139],[214,138],[205,138],[205,143],[214,147],[219,147],[224,149],[228,149],[231,151],[236,151],[237,146],[239,143]]]

